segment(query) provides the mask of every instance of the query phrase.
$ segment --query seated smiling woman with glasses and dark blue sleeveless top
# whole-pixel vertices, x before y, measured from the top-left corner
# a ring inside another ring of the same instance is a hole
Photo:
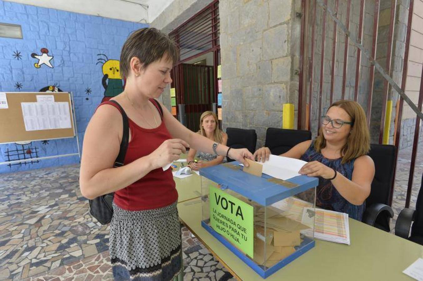
[[[337,101],[321,117],[319,136],[314,141],[301,142],[280,156],[307,161],[299,173],[319,177],[317,207],[348,213],[361,221],[374,177],[369,150],[363,108],[355,101]],[[268,147],[254,153],[262,162],[269,160],[269,155]]]

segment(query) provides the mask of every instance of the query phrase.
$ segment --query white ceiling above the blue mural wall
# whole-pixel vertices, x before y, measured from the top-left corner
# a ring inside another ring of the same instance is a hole
[[[130,22],[151,23],[173,0],[6,0]]]

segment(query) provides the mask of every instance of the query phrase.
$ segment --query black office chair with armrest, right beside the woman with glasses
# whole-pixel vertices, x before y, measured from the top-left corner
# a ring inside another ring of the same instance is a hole
[[[370,195],[366,199],[363,222],[390,232],[389,221],[394,213],[389,206],[389,197],[397,150],[395,145],[371,144],[370,147],[368,156],[374,161],[375,174]]]

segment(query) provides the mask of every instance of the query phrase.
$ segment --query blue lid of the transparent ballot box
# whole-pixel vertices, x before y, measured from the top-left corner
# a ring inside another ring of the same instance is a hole
[[[233,166],[228,167],[228,165]],[[236,169],[237,167],[239,169]],[[262,174],[261,177],[257,177],[243,172],[242,169],[239,162],[234,161],[200,169],[200,175],[264,206],[294,196],[319,184],[316,177],[301,175],[286,180],[297,185],[287,187],[281,183],[269,181],[272,177],[268,175]]]

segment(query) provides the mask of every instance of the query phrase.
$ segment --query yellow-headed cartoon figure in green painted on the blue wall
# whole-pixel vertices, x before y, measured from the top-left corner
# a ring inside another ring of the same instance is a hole
[[[104,98],[103,101],[108,101],[110,98],[122,93],[124,86],[122,85],[121,73],[119,71],[119,61],[109,60],[104,54],[98,54],[98,56],[104,56],[98,58],[96,64],[102,63],[103,79],[102,84],[104,87]]]

